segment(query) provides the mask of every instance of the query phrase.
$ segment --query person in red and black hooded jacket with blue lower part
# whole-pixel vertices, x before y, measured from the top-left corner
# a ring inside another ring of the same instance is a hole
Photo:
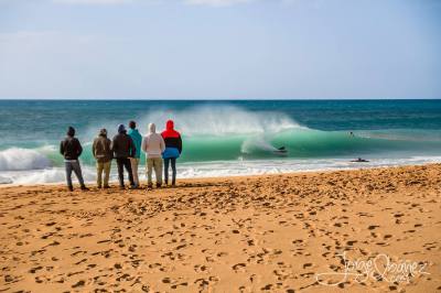
[[[176,159],[182,153],[182,139],[181,134],[174,130],[173,120],[169,120],[165,123],[165,130],[161,133],[165,142],[165,150],[162,153],[164,159],[164,181],[165,185],[169,184],[169,165],[172,165],[172,185],[176,184]]]

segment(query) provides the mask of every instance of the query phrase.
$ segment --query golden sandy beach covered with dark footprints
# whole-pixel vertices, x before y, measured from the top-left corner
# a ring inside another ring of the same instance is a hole
[[[0,292],[437,292],[440,195],[440,164],[2,187]]]

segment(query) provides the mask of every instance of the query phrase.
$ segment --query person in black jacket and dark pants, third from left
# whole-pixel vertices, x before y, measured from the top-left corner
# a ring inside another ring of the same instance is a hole
[[[119,187],[121,189],[125,188],[123,169],[126,169],[127,173],[129,173],[130,187],[136,188],[133,174],[131,172],[130,158],[135,158],[137,149],[131,138],[127,134],[123,124],[118,126],[118,134],[114,137],[111,150],[114,151],[114,158],[117,159]]]

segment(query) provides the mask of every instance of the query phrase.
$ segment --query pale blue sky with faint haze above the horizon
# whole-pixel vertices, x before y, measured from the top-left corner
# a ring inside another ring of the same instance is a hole
[[[0,0],[0,98],[441,98],[439,0]]]

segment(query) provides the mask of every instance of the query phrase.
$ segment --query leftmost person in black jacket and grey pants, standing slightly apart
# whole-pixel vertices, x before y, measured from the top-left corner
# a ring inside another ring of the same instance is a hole
[[[87,191],[84,184],[82,167],[78,158],[82,155],[83,148],[79,141],[75,138],[75,129],[69,127],[67,129],[67,137],[60,143],[60,153],[64,156],[64,166],[66,170],[67,188],[72,192],[74,186],[72,184],[72,172],[78,178],[79,185],[83,191]]]

